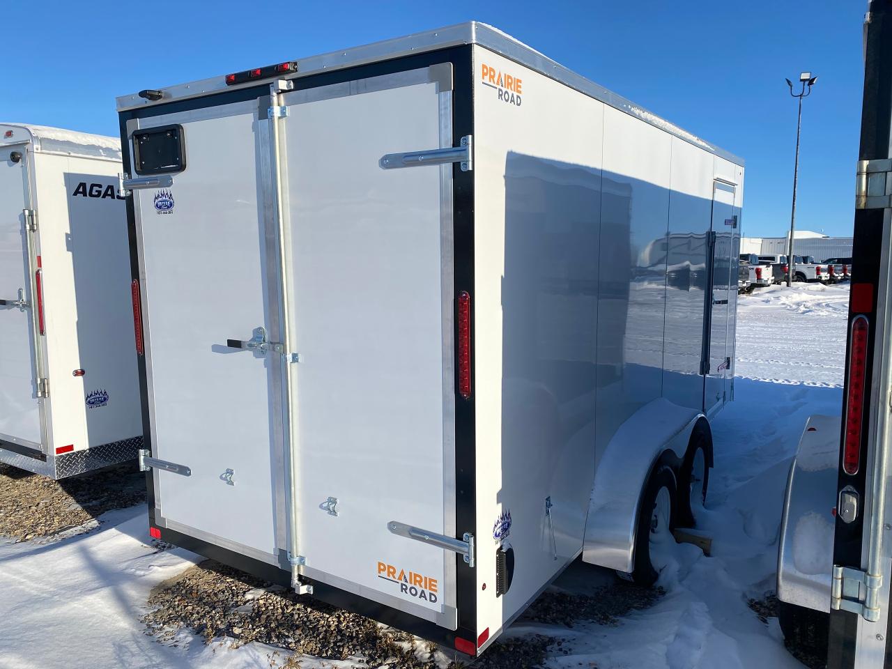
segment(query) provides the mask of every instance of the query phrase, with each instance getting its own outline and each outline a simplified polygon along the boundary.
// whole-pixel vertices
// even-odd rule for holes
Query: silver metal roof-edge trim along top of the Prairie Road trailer
[[[466,23],[458,23],[446,28],[418,32],[406,37],[396,37],[368,45],[355,46],[351,49],[342,49],[328,54],[300,58],[293,61],[297,63],[297,71],[294,74],[280,78],[308,77],[322,71],[343,70],[344,68],[355,67],[368,62],[384,61],[409,54],[423,54],[450,46],[469,44],[484,46],[531,70],[556,79],[580,93],[590,95],[615,109],[624,111],[656,128],[665,130],[665,132],[698,146],[704,151],[714,153],[740,166],[744,164],[743,159],[733,153],[706,142],[706,140],[691,134],[687,130],[679,128],[674,123],[660,118],[657,114],[642,109],[637,104],[626,100],[622,95],[616,95],[614,92],[607,90],[607,88],[582,77],[582,75],[577,74],[573,70],[567,69],[558,62],[551,60],[548,56],[511,37],[508,33],[479,21],[467,21]],[[252,80],[243,84],[227,86],[224,75],[220,75],[219,77],[200,79],[187,84],[157,89],[161,92],[161,98],[157,100],[142,98],[138,93],[121,95],[117,100],[118,111],[138,109],[139,107],[201,97],[202,95],[214,95],[224,90],[254,87],[259,83],[260,80]]]

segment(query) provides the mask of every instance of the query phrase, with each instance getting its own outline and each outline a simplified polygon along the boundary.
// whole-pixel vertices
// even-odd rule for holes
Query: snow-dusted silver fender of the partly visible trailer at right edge
[[[811,416],[789,468],[780,518],[777,596],[830,613],[839,416]]]

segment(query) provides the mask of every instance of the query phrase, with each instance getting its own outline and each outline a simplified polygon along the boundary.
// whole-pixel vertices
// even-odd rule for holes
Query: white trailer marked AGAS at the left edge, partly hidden
[[[0,123],[0,462],[54,479],[142,445],[120,142]]]

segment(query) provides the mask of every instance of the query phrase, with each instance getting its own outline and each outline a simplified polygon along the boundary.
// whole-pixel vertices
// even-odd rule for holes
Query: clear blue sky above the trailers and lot
[[[115,97],[475,19],[747,161],[744,234],[789,227],[796,103],[805,100],[797,228],[850,235],[863,0],[169,2],[9,0],[0,120],[117,135]]]

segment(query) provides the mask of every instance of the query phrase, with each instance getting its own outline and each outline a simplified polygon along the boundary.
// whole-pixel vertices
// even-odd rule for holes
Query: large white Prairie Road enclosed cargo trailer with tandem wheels
[[[480,23],[118,107],[153,535],[467,654],[579,556],[656,579],[742,161]]]

